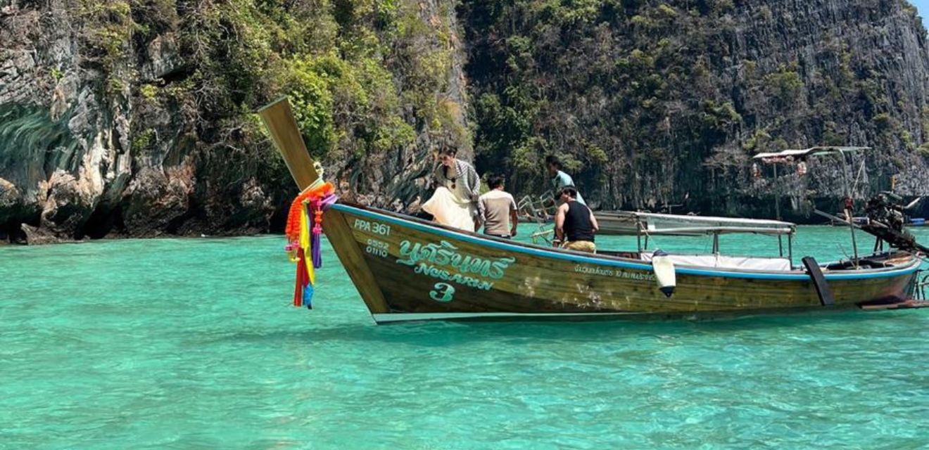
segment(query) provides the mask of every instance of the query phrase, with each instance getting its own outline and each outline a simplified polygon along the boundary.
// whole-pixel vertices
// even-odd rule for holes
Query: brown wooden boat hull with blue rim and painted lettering
[[[803,271],[678,267],[674,295],[651,264],[486,238],[347,204],[325,233],[378,323],[425,319],[752,315],[822,308]],[[909,298],[919,260],[826,271],[835,306]]]

